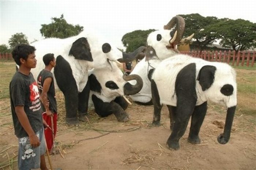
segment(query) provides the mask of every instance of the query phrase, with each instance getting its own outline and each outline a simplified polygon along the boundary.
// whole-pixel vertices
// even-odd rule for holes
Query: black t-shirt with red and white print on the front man
[[[10,100],[12,120],[17,137],[25,137],[28,134],[18,120],[15,112],[16,106],[24,106],[24,111],[35,133],[43,127],[39,91],[32,73],[27,76],[17,71],[14,74],[10,83]]]

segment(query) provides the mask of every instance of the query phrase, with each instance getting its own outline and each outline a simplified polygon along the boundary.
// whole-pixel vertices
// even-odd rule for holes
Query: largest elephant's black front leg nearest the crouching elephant
[[[83,91],[78,94],[78,120],[82,122],[88,121],[87,111],[90,94],[90,83],[87,81]]]

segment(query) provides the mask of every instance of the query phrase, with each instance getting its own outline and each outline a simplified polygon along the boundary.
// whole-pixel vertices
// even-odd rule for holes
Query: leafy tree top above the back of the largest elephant
[[[78,35],[83,31],[83,26],[68,24],[63,14],[60,18],[51,18],[52,23],[41,24],[40,33],[45,38],[67,38]]]

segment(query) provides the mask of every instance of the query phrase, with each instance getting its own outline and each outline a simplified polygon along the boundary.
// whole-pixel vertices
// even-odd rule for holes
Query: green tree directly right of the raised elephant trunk
[[[207,30],[207,27],[210,27],[211,24],[215,24],[219,22],[219,19],[214,16],[203,17],[199,14],[188,14],[188,15],[180,15],[185,20],[185,31],[184,37],[188,37],[189,35],[195,33],[193,45],[195,45],[199,50],[206,48],[207,45],[212,44],[218,39],[218,35],[211,34]]]

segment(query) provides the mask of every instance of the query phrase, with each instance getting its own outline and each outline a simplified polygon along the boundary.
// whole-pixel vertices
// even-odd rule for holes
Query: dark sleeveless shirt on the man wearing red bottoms
[[[47,70],[42,70],[38,77],[37,77],[37,83],[38,83],[38,88],[39,88],[39,92],[40,94],[42,94],[42,90],[43,90],[43,85],[44,85],[44,81],[46,78],[52,78],[52,82],[50,84],[49,90],[47,92],[47,97],[50,103],[49,109],[53,112],[53,113],[57,113],[57,102],[56,102],[56,98],[55,98],[55,88],[54,88],[54,80],[53,80],[53,75],[50,71]],[[45,107],[42,104],[42,109],[45,112]]]

